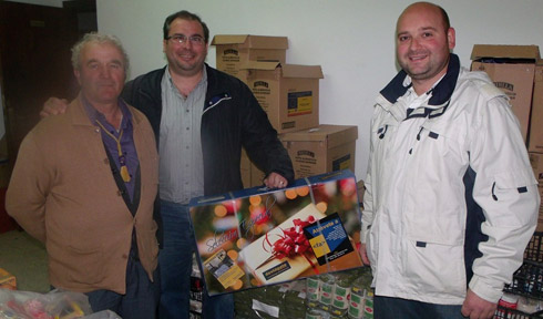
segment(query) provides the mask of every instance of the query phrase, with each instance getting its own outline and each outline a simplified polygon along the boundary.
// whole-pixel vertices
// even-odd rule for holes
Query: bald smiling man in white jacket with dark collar
[[[396,44],[402,70],[377,97],[365,181],[375,318],[491,318],[540,205],[518,120],[460,66],[442,8],[409,6]]]

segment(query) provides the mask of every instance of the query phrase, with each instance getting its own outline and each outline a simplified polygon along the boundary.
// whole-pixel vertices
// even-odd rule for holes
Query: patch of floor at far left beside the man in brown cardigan
[[[19,290],[50,290],[45,247],[24,231],[0,234],[0,268],[16,276]]]

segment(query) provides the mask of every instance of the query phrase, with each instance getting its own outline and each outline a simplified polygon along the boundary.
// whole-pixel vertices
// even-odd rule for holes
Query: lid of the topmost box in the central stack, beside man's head
[[[212,45],[239,44],[239,48],[250,49],[288,49],[287,37],[268,37],[250,34],[217,34],[213,37]]]

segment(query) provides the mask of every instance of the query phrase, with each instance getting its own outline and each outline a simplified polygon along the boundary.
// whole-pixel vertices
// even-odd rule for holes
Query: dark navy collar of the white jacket
[[[449,60],[449,66],[447,73],[441,79],[441,81],[433,89],[427,92],[427,94],[432,94],[430,100],[428,100],[427,106],[429,109],[441,109],[449,104],[454,88],[457,86],[458,75],[460,73],[460,60],[457,54],[451,53]],[[398,74],[390,81],[390,83],[381,90],[380,94],[389,103],[395,104],[399,97],[406,94],[407,90],[411,88],[411,81],[408,79],[406,71],[401,70]]]

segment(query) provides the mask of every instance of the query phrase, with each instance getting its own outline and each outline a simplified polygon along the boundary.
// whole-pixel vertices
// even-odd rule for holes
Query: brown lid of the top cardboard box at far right
[[[479,60],[483,58],[539,60],[540,48],[537,45],[473,45],[473,50],[471,51],[471,60]]]

